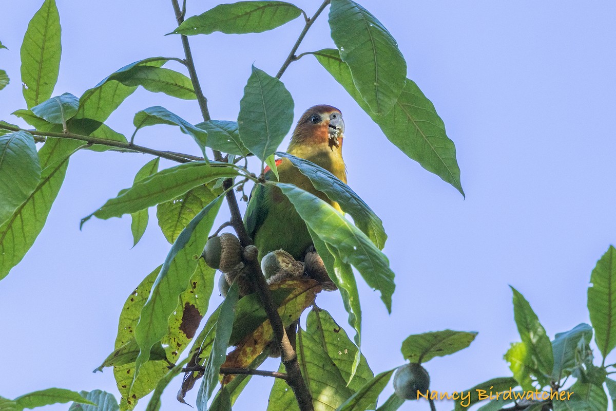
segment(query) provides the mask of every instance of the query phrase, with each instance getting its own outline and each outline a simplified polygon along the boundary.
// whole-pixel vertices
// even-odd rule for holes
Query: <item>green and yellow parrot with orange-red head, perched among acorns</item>
[[[346,166],[342,160],[343,137],[344,120],[340,110],[331,105],[315,105],[299,118],[286,152],[312,161],[346,184]],[[276,160],[276,165],[280,182],[294,184],[341,211],[338,203],[330,201],[325,193],[315,189],[290,160]],[[276,178],[269,167],[265,168],[264,173],[265,180]],[[254,186],[244,223],[248,235],[253,238],[254,245],[259,250],[259,261],[270,251],[280,249],[300,261],[312,245],[306,223],[295,211],[291,201],[278,187],[272,185]]]

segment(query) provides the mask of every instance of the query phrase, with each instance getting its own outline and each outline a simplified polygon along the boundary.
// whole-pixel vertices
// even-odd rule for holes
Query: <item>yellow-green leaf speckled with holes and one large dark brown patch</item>
[[[116,349],[135,341],[134,332],[140,312],[148,299],[153,283],[160,273],[160,268],[158,267],[151,272],[126,299],[118,324]],[[209,268],[203,262],[203,259],[200,259],[197,269],[193,269],[193,271],[192,277],[185,283],[184,291],[176,299],[177,306],[168,319],[169,325],[166,334],[160,341],[153,344],[153,348],[150,350],[150,358],[140,367],[137,378],[133,381],[136,368],[134,363],[137,355],[132,357],[132,362],[113,368],[116,384],[122,395],[123,410],[133,409],[140,398],[146,396],[158,386],[161,378],[168,376],[169,363],[165,358],[171,362],[176,362],[179,359],[182,351],[191,343],[200,324],[201,316],[208,311],[208,301],[214,287],[214,270]],[[166,347],[164,353],[155,349],[160,344],[164,344]],[[134,353],[134,351],[132,352]],[[157,352],[160,354],[156,354]],[[139,354],[138,346],[136,354]],[[152,356],[152,354],[155,354],[155,356]]]

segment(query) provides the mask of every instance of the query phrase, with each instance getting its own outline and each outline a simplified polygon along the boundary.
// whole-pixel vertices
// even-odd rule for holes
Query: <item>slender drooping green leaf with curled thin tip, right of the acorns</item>
[[[335,248],[330,248],[318,235],[311,230],[310,238],[314,243],[314,247],[317,250],[318,255],[323,259],[323,264],[327,270],[327,274],[338,287],[340,296],[342,297],[342,304],[349,317],[347,321],[349,325],[355,330],[355,344],[357,347],[362,346],[362,307],[359,302],[359,290],[357,290],[357,282],[355,281],[355,275],[351,264],[344,262],[340,253]],[[357,372],[357,368],[360,363],[360,350],[355,354],[353,364],[351,367],[351,377]]]

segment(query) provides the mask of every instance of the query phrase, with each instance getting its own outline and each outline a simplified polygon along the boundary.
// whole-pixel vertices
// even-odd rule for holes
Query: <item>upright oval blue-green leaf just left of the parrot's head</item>
[[[259,160],[274,154],[293,124],[293,97],[285,85],[253,65],[238,115],[241,142]]]

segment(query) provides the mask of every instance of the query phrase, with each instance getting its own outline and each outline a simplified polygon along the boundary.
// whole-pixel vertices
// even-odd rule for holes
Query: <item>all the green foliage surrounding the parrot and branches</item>
[[[294,115],[293,96],[280,78],[290,63],[304,55],[314,55],[325,68],[323,74],[333,76],[349,92],[387,139],[464,195],[455,145],[445,133],[444,122],[417,84],[407,78],[407,62],[391,33],[358,2],[331,0],[330,4],[326,0],[309,18],[304,10],[287,2],[241,1],[221,4],[186,20],[185,10],[180,9],[177,0],[172,3],[179,25],[170,34],[182,36],[185,58],[152,57],[129,63],[84,91],[81,97],[68,92],[54,96],[62,49],[55,1],[44,0],[28,25],[20,49],[27,108],[16,110],[14,115],[34,129],[0,121],[0,279],[33,245],[62,186],[70,157],[84,149],[142,152],[154,158],[139,170],[131,187],[83,218],[81,225],[93,216],[108,219],[130,214],[136,245],[148,224],[148,208],[156,206],[161,232],[172,246],[166,258],[161,256],[161,265],[136,288],[124,285],[131,292],[122,310],[116,344],[97,368],[114,367],[121,393],[119,404],[112,394],[103,391],[78,394],[50,388],[14,400],[0,397],[0,410],[68,401],[74,402],[71,410],[131,410],[152,391],[155,394],[147,408],[158,410],[161,393],[181,373],[181,401],[203,378],[197,409],[230,409],[249,375],[256,372],[267,355],[285,347],[284,338],[278,336],[285,328],[293,340],[288,343],[296,351],[301,373],[291,381],[293,359],[283,352],[279,372],[272,373],[279,378],[270,393],[268,410],[301,409],[301,401],[296,401],[300,394],[294,395],[287,383],[306,385],[315,410],[375,409],[396,368],[375,376],[362,354],[362,309],[353,269],[369,287],[381,293],[391,312],[394,272],[382,251],[387,235],[381,219],[345,182],[306,159],[277,152],[290,132]],[[328,6],[331,39],[337,48],[295,55],[314,20]],[[304,15],[304,30],[277,75],[252,67],[237,121],[209,118],[185,36],[215,31],[260,33],[300,15]],[[0,43],[0,49],[6,46]],[[162,67],[171,60],[182,63],[187,74]],[[6,72],[0,70],[0,90],[8,83]],[[164,107],[144,108],[134,115],[135,129],[129,141],[105,121],[137,87],[177,99],[197,100],[203,122],[192,124]],[[177,126],[192,137],[203,157],[134,145],[139,129],[159,124]],[[39,143],[43,145],[37,152]],[[260,160],[260,168],[248,169],[247,161],[244,166],[238,165],[253,155]],[[277,173],[275,155],[290,161],[323,198],[334,201],[339,209],[294,184],[265,181],[265,165]],[[180,164],[159,170],[160,158]],[[287,279],[269,286],[253,281],[254,293],[242,291],[242,283],[235,280],[224,302],[201,327],[214,287],[214,270],[200,259],[201,251],[223,199],[227,198],[233,214],[234,204],[237,208],[233,190],[243,190],[249,182],[279,190],[306,223],[327,274],[342,296],[348,322],[355,331],[354,341],[328,312],[317,307],[315,301],[325,285],[314,279]],[[247,269],[246,275],[261,275],[254,271],[254,259],[248,256],[249,240],[242,238],[240,220],[232,215],[229,222],[243,246],[239,269]],[[540,399],[518,402],[517,409],[605,410],[607,395],[602,385],[606,383],[611,396],[616,395],[616,382],[607,378],[610,366],[605,365],[605,357],[616,346],[615,258],[616,249],[610,246],[591,276],[588,309],[594,328],[580,324],[557,333],[552,341],[530,303],[512,288],[514,317],[521,337],[505,354],[513,376],[494,378],[469,391],[511,394],[517,386],[538,391],[568,389],[572,392],[571,402]],[[264,279],[261,283],[265,284]],[[312,309],[304,315],[302,325],[302,313],[309,307]],[[603,357],[601,365],[593,364],[589,345],[593,330]],[[425,364],[434,357],[467,348],[476,335],[452,330],[411,335],[402,343],[402,356]],[[182,351],[191,343],[188,355],[182,357]],[[235,349],[227,354],[231,346]],[[575,383],[567,386],[569,377]],[[482,399],[474,395],[467,405],[458,401],[456,410]],[[495,400],[483,408],[500,409],[511,402],[513,399],[505,403]],[[402,403],[394,395],[378,410],[395,410]],[[431,406],[434,408],[432,402]]]

